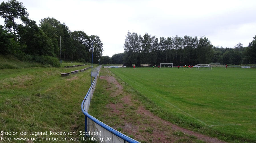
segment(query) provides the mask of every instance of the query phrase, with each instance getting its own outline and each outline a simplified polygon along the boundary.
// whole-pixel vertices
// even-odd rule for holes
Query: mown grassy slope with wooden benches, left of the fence
[[[60,73],[90,65],[69,69],[64,65],[77,63],[0,70],[0,131],[84,131],[81,102],[91,85],[90,70],[68,77]]]

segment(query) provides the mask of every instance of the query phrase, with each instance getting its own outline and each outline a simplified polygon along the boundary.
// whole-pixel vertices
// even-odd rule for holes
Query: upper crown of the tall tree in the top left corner
[[[23,6],[23,3],[19,3],[16,0],[8,0],[8,2],[2,2],[0,5],[0,16],[5,19],[5,27],[7,27],[14,35],[16,35],[17,24],[15,20],[20,19],[22,22],[27,21],[29,13],[27,8]]]

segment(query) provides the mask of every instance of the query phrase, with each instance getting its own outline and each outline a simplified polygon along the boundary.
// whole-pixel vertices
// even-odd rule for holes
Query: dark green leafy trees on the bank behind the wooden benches
[[[0,25],[0,53],[15,55],[21,60],[33,60],[34,55],[50,56],[65,61],[91,62],[88,49],[94,48],[93,61],[98,63],[103,44],[97,35],[84,31],[71,32],[65,23],[55,18],[43,18],[37,25],[29,18],[27,8],[16,0],[0,5],[0,16],[5,25]]]

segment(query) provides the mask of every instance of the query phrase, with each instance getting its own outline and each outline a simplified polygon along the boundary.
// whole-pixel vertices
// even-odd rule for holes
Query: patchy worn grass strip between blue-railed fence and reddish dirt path
[[[102,68],[100,71],[100,76],[113,76],[112,72],[108,72],[106,68]],[[177,136],[176,134],[172,134],[172,130],[170,127],[167,127],[167,130],[164,128],[166,125],[160,123],[156,124],[155,121],[147,119],[148,117],[142,114],[138,114],[137,110],[141,106],[141,102],[139,102],[136,98],[138,97],[137,92],[131,89],[127,84],[125,84],[120,78],[116,78],[119,84],[123,87],[123,93],[118,95],[114,95],[115,92],[115,84],[109,84],[104,79],[99,79],[97,81],[96,90],[94,91],[94,95],[92,97],[92,101],[89,108],[89,113],[95,118],[99,119],[103,123],[106,123],[110,127],[113,127],[117,131],[134,138],[135,140],[139,140],[142,142],[161,142],[162,140],[169,140],[176,142],[201,142],[195,136],[188,136],[186,134],[182,134],[182,136]],[[125,104],[122,100],[124,96],[131,96],[132,103]],[[119,113],[113,113],[112,108],[109,107],[110,104],[119,104],[121,108],[119,108]],[[134,105],[133,105],[134,104]],[[123,106],[122,106],[123,105]],[[138,127],[136,133],[127,133],[125,130],[126,123]],[[142,125],[143,124],[143,125]],[[144,126],[146,124],[146,126]],[[136,131],[136,130],[133,130]],[[160,138],[156,136],[154,133],[164,131],[168,133],[167,138]],[[138,138],[138,136],[141,136]],[[187,139],[188,138],[188,139]],[[154,140],[154,141],[153,141]]]

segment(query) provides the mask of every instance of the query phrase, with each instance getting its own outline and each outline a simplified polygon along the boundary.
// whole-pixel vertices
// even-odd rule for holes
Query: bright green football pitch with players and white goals
[[[256,69],[212,69],[110,70],[167,113],[161,118],[224,140],[255,141]]]

